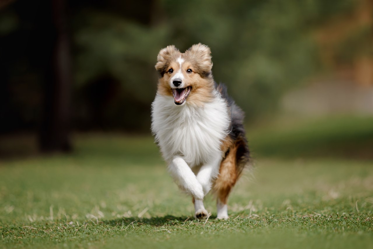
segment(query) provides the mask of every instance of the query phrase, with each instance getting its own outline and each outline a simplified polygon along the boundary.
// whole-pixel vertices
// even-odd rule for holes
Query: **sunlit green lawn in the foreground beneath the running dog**
[[[228,221],[192,218],[162,164],[56,156],[1,166],[5,248],[371,248],[371,162],[258,159],[229,200]],[[131,160],[130,160],[131,161]],[[101,166],[102,164],[102,166]],[[3,177],[6,176],[6,177]]]

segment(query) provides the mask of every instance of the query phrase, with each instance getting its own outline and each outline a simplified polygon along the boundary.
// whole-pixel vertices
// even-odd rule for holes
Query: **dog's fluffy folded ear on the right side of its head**
[[[212,68],[211,50],[201,43],[194,44],[187,51],[191,58],[195,58],[204,74],[209,74]]]

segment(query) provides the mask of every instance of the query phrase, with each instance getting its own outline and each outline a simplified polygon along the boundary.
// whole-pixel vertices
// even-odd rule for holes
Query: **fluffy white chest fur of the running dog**
[[[222,155],[221,141],[229,132],[230,119],[220,96],[198,107],[187,102],[178,106],[172,97],[157,94],[151,116],[151,130],[167,162],[181,156],[192,168]]]

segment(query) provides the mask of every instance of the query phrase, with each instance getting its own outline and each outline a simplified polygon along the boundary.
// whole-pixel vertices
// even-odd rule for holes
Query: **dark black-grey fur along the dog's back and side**
[[[245,128],[244,128],[244,111],[239,108],[238,105],[234,102],[234,100],[229,97],[227,93],[227,87],[220,83],[219,85],[215,82],[216,89],[220,92],[223,99],[226,100],[229,107],[229,112],[231,113],[231,132],[229,136],[231,137],[233,143],[238,145],[237,153],[236,153],[236,165],[237,165],[237,173],[238,175],[241,174],[242,170],[248,164],[250,159],[250,151],[247,143],[247,139],[245,136]],[[229,153],[228,151],[225,152],[225,155]]]

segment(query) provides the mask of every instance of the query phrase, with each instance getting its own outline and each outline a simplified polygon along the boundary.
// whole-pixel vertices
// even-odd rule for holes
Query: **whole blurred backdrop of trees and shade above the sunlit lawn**
[[[152,140],[157,54],[200,42],[254,156],[373,158],[372,34],[370,0],[3,0],[0,157]]]

